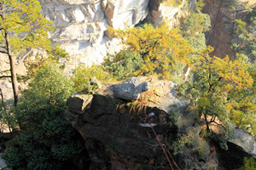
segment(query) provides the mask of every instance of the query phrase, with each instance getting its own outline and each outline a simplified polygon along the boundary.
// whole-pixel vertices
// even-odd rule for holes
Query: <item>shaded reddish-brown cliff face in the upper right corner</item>
[[[226,55],[230,59],[235,59],[236,54],[230,48],[232,42],[236,42],[237,37],[233,35],[233,20],[239,19],[244,7],[241,3],[247,3],[248,7],[256,4],[255,0],[238,0],[236,10],[226,8],[224,0],[204,0],[206,4],[202,10],[209,14],[212,28],[207,33],[207,45],[211,45],[215,50],[212,55],[224,58]]]

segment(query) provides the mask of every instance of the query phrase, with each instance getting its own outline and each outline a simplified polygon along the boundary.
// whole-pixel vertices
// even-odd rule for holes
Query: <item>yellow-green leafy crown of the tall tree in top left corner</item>
[[[51,21],[41,13],[41,5],[37,0],[1,0],[0,44],[6,48],[5,33],[11,35],[9,43],[11,52],[20,55],[28,48],[44,48],[51,50],[47,32],[53,31]]]

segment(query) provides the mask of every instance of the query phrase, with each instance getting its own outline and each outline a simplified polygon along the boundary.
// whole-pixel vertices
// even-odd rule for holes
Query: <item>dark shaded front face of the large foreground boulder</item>
[[[145,113],[151,112],[155,132],[168,145],[176,138],[177,127],[165,111],[145,105],[119,105],[106,96],[93,95],[90,108],[73,120],[73,126],[84,138],[90,170],[169,169],[152,129],[142,126],[148,123]]]

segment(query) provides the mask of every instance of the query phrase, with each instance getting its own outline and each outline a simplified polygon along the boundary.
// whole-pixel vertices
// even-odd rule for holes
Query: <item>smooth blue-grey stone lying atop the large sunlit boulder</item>
[[[148,89],[149,82],[142,82],[139,77],[133,77],[120,85],[113,86],[114,97],[128,101],[138,99],[140,94]]]

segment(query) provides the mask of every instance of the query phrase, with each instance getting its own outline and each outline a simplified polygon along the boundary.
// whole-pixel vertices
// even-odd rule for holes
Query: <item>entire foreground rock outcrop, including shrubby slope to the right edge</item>
[[[98,82],[97,82],[98,83]],[[84,138],[88,169],[236,169],[243,157],[256,157],[255,138],[236,129],[221,150],[201,137],[201,125],[173,82],[131,78],[97,84],[95,94],[67,99],[67,119]]]

